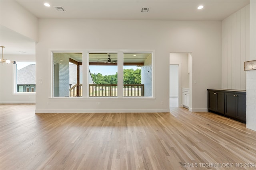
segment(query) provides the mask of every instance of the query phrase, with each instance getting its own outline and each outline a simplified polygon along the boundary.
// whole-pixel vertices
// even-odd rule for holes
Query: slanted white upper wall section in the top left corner
[[[38,18],[15,1],[0,1],[0,23],[34,41],[38,41]]]

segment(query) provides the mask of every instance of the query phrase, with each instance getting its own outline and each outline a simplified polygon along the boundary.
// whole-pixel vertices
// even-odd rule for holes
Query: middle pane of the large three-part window
[[[89,96],[117,96],[117,53],[89,53]]]

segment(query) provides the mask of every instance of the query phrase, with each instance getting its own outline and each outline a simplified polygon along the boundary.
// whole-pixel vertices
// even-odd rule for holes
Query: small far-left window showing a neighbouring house
[[[36,63],[17,62],[16,92],[36,92]]]

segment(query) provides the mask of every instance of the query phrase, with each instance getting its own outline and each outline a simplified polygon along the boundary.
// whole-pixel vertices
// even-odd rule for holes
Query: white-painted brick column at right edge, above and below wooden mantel
[[[256,1],[250,1],[250,61],[256,60]],[[256,70],[246,71],[246,127],[256,131]]]

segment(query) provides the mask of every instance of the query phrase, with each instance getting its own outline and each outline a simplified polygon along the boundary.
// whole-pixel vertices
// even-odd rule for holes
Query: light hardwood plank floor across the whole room
[[[256,169],[256,132],[213,113],[34,109],[0,105],[1,170]]]

